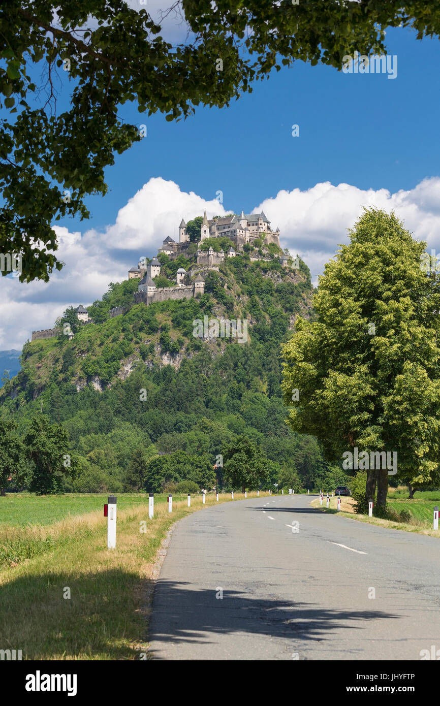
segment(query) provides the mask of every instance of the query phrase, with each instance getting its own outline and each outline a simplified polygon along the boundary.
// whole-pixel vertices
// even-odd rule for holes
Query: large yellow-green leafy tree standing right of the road
[[[317,321],[298,318],[283,346],[288,422],[330,460],[396,452],[397,477],[427,482],[440,450],[439,275],[423,271],[426,243],[393,213],[365,210],[349,233],[319,280]],[[366,499],[376,483],[385,505],[383,462],[368,469]]]

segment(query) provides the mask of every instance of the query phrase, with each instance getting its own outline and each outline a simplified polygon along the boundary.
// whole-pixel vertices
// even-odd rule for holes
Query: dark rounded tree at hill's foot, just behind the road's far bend
[[[239,436],[223,448],[223,477],[234,488],[258,488],[268,483],[268,461],[255,441]]]

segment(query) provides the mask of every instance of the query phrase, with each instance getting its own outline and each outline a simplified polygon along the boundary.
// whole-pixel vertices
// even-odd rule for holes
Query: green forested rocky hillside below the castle
[[[164,261],[162,270],[172,277],[178,266],[179,258]],[[314,439],[286,426],[280,393],[280,343],[298,314],[311,316],[307,265],[244,254],[204,277],[202,297],[150,306],[133,303],[138,280],[112,284],[89,307],[94,323],[78,323],[72,340],[60,334],[23,347],[0,413],[16,420],[21,438],[40,414],[64,427],[78,461],[66,490],[159,491],[182,479],[206,487],[222,445],[243,433],[283,484],[312,488],[328,472]],[[110,317],[116,306],[127,311]],[[205,316],[248,319],[247,342],[194,337],[194,320]]]

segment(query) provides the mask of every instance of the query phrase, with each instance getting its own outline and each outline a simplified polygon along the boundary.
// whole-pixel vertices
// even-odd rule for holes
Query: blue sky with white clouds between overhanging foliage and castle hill
[[[90,220],[54,225],[61,273],[29,285],[0,278],[0,350],[52,327],[66,306],[92,304],[204,208],[210,217],[263,208],[315,284],[364,206],[396,210],[439,252],[439,40],[407,29],[386,39],[394,79],[297,62],[229,108],[198,107],[179,123],[124,106],[121,116],[145,123],[147,137],[107,167],[109,192],[86,200]]]

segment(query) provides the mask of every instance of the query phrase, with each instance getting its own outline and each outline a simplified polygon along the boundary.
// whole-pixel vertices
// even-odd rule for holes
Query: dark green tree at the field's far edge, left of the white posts
[[[40,414],[30,422],[23,443],[32,467],[31,493],[62,493],[64,478],[72,477],[76,467],[67,431]]]

